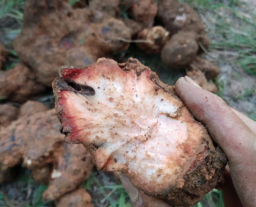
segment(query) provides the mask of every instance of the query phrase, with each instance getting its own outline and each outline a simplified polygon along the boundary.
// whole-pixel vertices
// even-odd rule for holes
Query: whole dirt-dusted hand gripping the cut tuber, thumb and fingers
[[[256,206],[256,122],[229,107],[218,96],[203,90],[187,76],[180,78],[175,86],[178,96],[205,125],[229,159],[230,173],[227,169],[221,187],[225,207]],[[121,175],[120,180],[134,206],[171,206],[138,191],[126,176]]]

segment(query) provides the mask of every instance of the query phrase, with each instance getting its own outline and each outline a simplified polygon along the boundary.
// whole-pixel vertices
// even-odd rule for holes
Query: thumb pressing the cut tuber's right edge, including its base
[[[196,86],[190,78],[180,78],[176,92],[187,107],[208,129],[212,139],[229,159],[230,173],[244,206],[256,205],[256,135],[218,96]]]

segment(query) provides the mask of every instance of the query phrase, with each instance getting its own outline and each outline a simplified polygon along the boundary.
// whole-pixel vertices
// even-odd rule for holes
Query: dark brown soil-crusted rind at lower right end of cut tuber
[[[196,168],[184,177],[182,188],[172,188],[164,195],[147,193],[167,201],[174,206],[189,207],[198,203],[206,193],[224,183],[223,172],[227,157],[220,147],[207,149],[204,157],[195,163]],[[209,179],[209,177],[212,177]]]

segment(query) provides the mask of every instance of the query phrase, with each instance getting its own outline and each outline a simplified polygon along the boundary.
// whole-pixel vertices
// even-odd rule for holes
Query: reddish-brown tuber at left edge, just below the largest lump
[[[36,74],[22,63],[12,70],[0,71],[0,96],[8,100],[24,102],[44,90],[45,86],[38,83]]]

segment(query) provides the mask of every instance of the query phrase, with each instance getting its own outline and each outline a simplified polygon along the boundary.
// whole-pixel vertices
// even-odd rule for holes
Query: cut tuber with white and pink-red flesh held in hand
[[[146,195],[196,204],[223,181],[227,157],[174,87],[130,58],[65,68],[52,84],[62,133],[99,170],[121,171]]]

